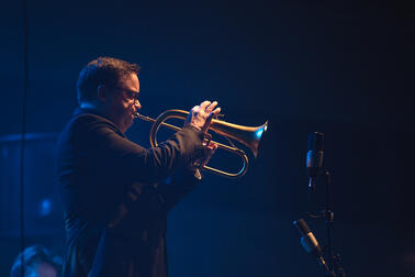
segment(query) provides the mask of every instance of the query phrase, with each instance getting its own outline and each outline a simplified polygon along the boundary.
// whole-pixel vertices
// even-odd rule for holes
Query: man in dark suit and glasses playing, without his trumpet
[[[135,64],[100,57],[79,75],[79,108],[57,144],[64,276],[167,276],[167,213],[201,180],[193,163],[208,163],[217,148],[203,144],[221,111],[210,101],[157,147],[128,141],[124,133],[142,107],[138,73]]]

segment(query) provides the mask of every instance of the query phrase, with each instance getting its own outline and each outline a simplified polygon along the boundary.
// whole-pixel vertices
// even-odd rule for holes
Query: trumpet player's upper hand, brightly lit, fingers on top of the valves
[[[221,108],[216,108],[217,102],[204,101],[200,106],[194,106],[190,110],[189,115],[184,122],[184,125],[191,125],[203,133],[206,133],[211,125],[212,119],[217,117],[221,112]]]

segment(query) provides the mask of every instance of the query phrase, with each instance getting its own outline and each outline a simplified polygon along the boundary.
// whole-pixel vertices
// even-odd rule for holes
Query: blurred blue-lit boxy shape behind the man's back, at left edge
[[[63,208],[55,175],[56,133],[25,134],[24,232],[29,236],[64,234]],[[0,136],[0,236],[20,234],[21,135]]]

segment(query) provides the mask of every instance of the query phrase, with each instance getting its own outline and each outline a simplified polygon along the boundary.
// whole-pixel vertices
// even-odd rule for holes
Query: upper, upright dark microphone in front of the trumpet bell
[[[324,134],[319,132],[313,132],[309,134],[307,138],[307,158],[306,158],[306,168],[309,173],[309,192],[312,193],[315,187],[315,178],[323,166],[323,142]]]

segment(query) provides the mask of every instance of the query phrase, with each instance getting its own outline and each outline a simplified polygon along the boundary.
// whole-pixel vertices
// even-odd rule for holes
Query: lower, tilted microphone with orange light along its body
[[[317,259],[317,263],[323,267],[326,276],[334,276],[334,273],[330,272],[322,255],[322,247],[318,245],[314,234],[310,231],[307,223],[305,223],[303,219],[299,219],[293,222],[293,225],[300,231],[301,244],[304,250]]]

